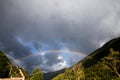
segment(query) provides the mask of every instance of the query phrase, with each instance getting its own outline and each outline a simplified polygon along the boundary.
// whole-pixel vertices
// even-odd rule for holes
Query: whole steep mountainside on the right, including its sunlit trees
[[[120,37],[110,40],[52,80],[120,80]]]

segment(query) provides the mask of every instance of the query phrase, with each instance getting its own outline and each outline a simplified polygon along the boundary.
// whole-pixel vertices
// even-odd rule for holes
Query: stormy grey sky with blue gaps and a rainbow
[[[31,72],[70,67],[120,35],[120,0],[0,0],[0,50]]]

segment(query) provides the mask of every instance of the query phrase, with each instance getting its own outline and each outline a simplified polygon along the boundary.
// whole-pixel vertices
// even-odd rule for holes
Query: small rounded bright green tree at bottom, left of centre
[[[33,75],[30,78],[30,80],[43,80],[43,73],[41,70],[39,70],[38,68],[35,68],[33,70]]]

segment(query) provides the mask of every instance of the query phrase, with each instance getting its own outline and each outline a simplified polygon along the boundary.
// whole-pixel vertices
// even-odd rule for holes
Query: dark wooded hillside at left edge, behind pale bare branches
[[[22,70],[26,78],[29,76],[22,68],[12,65],[9,58],[0,51],[0,78],[21,77],[19,69]]]

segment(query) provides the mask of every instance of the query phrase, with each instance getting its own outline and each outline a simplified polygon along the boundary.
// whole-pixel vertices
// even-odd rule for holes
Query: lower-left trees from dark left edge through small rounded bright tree
[[[0,51],[0,78],[21,77],[20,67],[13,66],[9,58]],[[29,75],[25,70],[20,68],[25,75],[26,80],[43,80],[43,73],[38,68],[33,70],[33,74]]]

